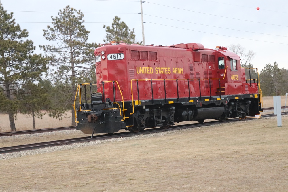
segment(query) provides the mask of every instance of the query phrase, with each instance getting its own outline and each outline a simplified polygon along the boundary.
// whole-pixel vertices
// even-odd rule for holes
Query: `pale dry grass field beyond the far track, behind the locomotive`
[[[285,96],[281,96],[281,106],[285,105]],[[273,107],[273,97],[263,97],[263,107]],[[36,129],[71,126],[71,112],[67,112],[66,118],[62,120],[53,119],[48,114],[43,119],[35,119]],[[33,129],[32,117],[18,114],[15,120],[16,130]],[[7,114],[0,114],[0,132],[9,132],[10,124]]]

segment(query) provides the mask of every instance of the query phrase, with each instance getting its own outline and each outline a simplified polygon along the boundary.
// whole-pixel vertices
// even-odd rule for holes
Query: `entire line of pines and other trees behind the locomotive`
[[[49,116],[62,119],[71,110],[78,83],[96,83],[94,49],[99,44],[88,43],[90,31],[84,26],[84,14],[72,7],[59,10],[51,16],[51,26],[43,29],[47,45],[39,45],[43,54],[35,54],[35,46],[28,39],[28,31],[21,29],[0,2],[0,112],[9,116],[11,131],[16,131],[17,113],[35,118]],[[103,25],[106,38],[103,42],[123,41],[142,44],[118,16],[111,26]],[[230,50],[241,57],[241,66],[251,68],[251,78],[257,72],[250,63],[255,53],[245,51],[241,45],[231,45]],[[246,69],[247,70],[247,69]],[[259,72],[258,72],[259,73]],[[247,76],[246,72],[246,76]],[[278,68],[277,62],[266,64],[259,73],[263,95],[285,94],[287,70]],[[249,77],[246,77],[249,78]],[[45,111],[45,112],[43,112]],[[71,125],[75,125],[72,115]]]

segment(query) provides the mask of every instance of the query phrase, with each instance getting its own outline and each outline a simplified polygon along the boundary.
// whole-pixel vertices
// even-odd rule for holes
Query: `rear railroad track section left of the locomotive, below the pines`
[[[0,137],[1,136],[11,136],[11,135],[32,134],[32,133],[43,133],[43,132],[51,132],[51,131],[71,130],[71,129],[76,129],[76,126],[3,132],[3,133],[0,133]]]

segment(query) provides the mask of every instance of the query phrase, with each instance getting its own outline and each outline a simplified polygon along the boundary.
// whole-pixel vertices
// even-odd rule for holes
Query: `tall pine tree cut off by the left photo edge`
[[[21,30],[14,20],[13,12],[8,14],[0,3],[0,85],[1,97],[5,96],[5,105],[0,106],[0,111],[8,113],[11,131],[16,131],[14,118],[19,103],[16,88],[29,63],[29,55],[35,50],[33,42],[26,39],[27,30]]]

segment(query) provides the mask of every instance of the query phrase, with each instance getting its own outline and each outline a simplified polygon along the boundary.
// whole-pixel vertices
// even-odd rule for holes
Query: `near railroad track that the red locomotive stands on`
[[[288,114],[288,112],[282,113],[282,115],[286,115],[286,114]],[[261,117],[272,117],[272,116],[276,116],[276,115],[266,114],[266,115],[262,115]],[[247,118],[244,120],[251,120],[251,119],[252,118]],[[45,147],[52,147],[52,146],[58,146],[58,145],[67,145],[67,144],[80,143],[80,142],[89,142],[89,141],[95,141],[95,140],[105,140],[105,139],[111,139],[111,138],[128,137],[128,136],[134,136],[134,135],[140,135],[140,134],[151,134],[151,133],[158,133],[158,132],[164,132],[164,131],[170,131],[170,130],[196,128],[196,127],[202,127],[202,126],[215,125],[217,123],[228,123],[228,122],[233,122],[233,121],[243,121],[243,120],[240,120],[238,118],[234,118],[234,119],[227,119],[225,122],[211,121],[211,122],[205,122],[205,123],[194,123],[194,124],[170,126],[170,128],[168,128],[168,129],[152,128],[152,129],[143,130],[143,131],[138,132],[138,133],[120,132],[120,133],[115,133],[115,134],[96,135],[93,137],[88,136],[88,137],[65,139],[65,140],[58,140],[58,141],[32,143],[32,144],[27,144],[27,145],[2,147],[2,148],[0,148],[0,154],[1,153],[11,153],[11,152],[16,152],[16,151],[31,150],[31,149],[39,149],[39,148],[45,148]]]

